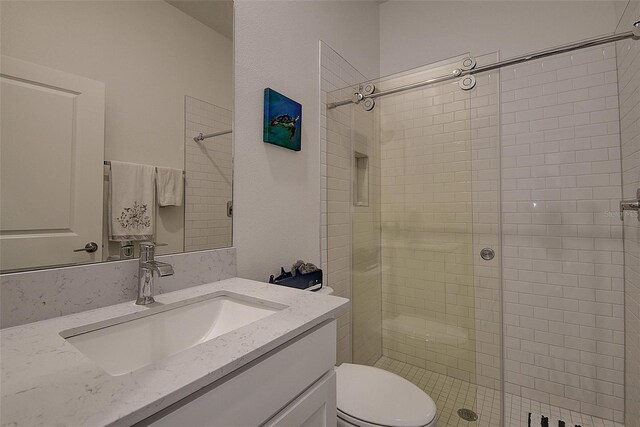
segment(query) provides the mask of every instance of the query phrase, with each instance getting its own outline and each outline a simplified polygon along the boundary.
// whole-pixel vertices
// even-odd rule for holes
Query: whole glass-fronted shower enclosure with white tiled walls
[[[464,54],[327,94],[328,282],[352,301],[339,363],[411,380],[440,427],[527,425],[529,412],[624,421],[633,22],[533,58]],[[639,270],[637,250],[626,260]],[[640,393],[629,375],[637,366],[627,402]]]

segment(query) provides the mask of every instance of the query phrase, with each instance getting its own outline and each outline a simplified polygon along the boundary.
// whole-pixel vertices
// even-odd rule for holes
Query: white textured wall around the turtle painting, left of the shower
[[[320,263],[319,41],[367,77],[379,66],[377,2],[235,4],[234,244],[238,275]],[[303,106],[302,151],[262,142],[263,90]]]

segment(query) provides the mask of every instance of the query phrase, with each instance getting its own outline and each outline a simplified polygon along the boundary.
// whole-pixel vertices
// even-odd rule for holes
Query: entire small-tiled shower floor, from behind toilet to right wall
[[[376,367],[404,377],[420,387],[436,402],[438,427],[499,427],[500,392],[466,381],[428,371],[405,362],[381,357]],[[473,409],[478,414],[475,422],[465,421],[457,414],[460,408]],[[620,423],[561,409],[510,394],[505,395],[505,427],[527,427],[529,412],[542,413],[551,419],[562,419],[567,427],[624,427]],[[550,425],[555,426],[557,424]]]

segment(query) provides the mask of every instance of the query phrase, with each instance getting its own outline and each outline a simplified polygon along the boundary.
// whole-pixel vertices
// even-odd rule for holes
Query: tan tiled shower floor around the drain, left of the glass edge
[[[500,392],[496,390],[385,356],[380,358],[375,366],[406,378],[431,396],[438,410],[438,427],[497,427],[500,425]],[[457,413],[460,408],[474,410],[478,414],[478,420],[463,420]]]

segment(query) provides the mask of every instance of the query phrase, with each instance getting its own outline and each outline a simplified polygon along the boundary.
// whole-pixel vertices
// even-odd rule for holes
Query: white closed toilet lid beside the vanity
[[[343,363],[336,368],[338,410],[368,423],[392,427],[426,426],[436,416],[433,400],[391,372]]]

